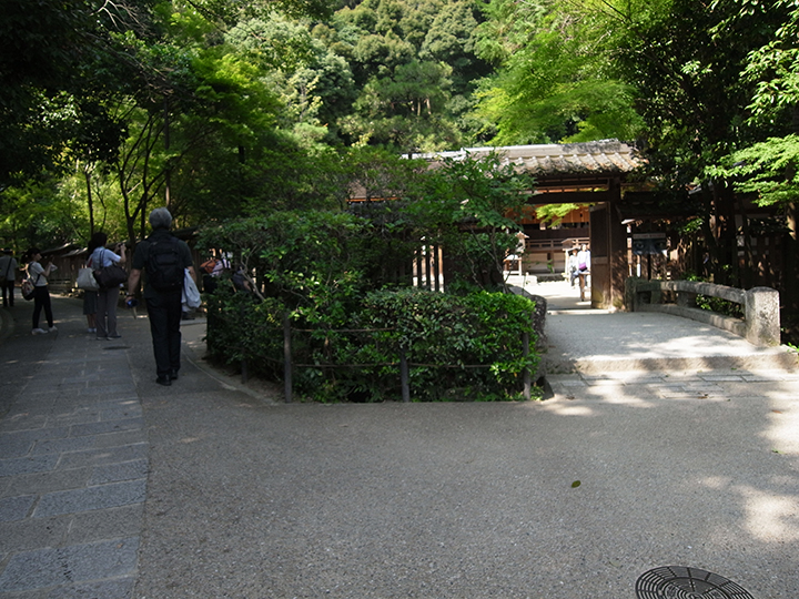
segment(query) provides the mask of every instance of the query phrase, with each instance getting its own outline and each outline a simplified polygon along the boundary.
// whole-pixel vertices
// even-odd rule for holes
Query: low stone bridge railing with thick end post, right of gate
[[[744,319],[696,307],[697,295],[741,304]],[[626,281],[625,304],[633,312],[665,312],[714,325],[745,337],[752,345],[780,344],[779,292],[770,287],[744,291],[714,283],[631,277]]]

